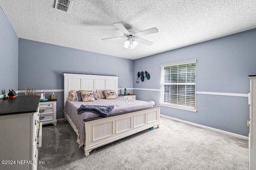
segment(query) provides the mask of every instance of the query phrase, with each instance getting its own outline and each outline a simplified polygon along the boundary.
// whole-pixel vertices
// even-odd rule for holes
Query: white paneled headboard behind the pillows
[[[68,92],[75,89],[111,89],[118,92],[118,76],[102,76],[92,74],[64,74],[64,106],[68,98]]]

